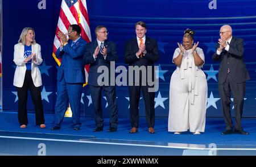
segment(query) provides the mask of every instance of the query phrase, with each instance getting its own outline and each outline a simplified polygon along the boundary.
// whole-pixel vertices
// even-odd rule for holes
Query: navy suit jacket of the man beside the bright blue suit
[[[108,49],[106,60],[101,53],[98,53],[96,60],[93,58],[93,53],[98,46],[97,40],[92,41],[86,45],[84,54],[84,63],[90,64],[89,74],[88,74],[88,85],[99,86],[97,83],[98,76],[102,73],[97,73],[98,67],[101,65],[106,66],[109,69],[109,85],[110,86],[110,61],[117,61],[118,55],[115,48],[115,44],[112,41],[105,40],[104,46]],[[114,67],[113,67],[114,68]]]

